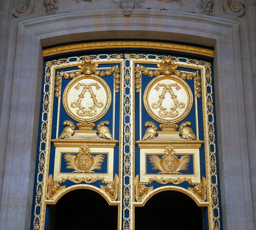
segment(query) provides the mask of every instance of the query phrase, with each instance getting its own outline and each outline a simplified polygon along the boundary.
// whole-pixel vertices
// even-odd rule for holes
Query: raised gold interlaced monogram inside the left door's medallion
[[[90,83],[90,84],[78,83],[76,85],[75,89],[79,90],[80,86],[84,86],[84,88],[81,91],[81,94],[79,94],[79,99],[76,102],[72,102],[71,103],[71,107],[72,108],[76,108],[76,107],[79,108],[79,110],[76,111],[76,113],[79,116],[94,116],[94,115],[96,115],[97,111],[96,111],[95,108],[96,107],[102,108],[103,107],[103,103],[97,101],[96,94],[93,93],[92,87],[95,86],[96,90],[99,90],[100,86],[97,83]],[[88,107],[88,110],[86,110],[86,108],[81,105],[81,101],[84,98],[84,94],[87,91],[90,93],[90,95],[91,95],[90,97],[93,99],[93,103],[94,103],[92,106]]]

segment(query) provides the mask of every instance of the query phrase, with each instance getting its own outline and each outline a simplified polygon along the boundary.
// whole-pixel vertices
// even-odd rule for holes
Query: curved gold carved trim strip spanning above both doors
[[[151,48],[151,49],[160,49],[160,50],[169,50],[169,51],[180,51],[180,52],[186,52],[190,54],[200,54],[207,57],[214,56],[214,51],[211,49],[194,47],[190,45],[146,42],[146,41],[104,41],[104,42],[62,45],[58,47],[44,49],[43,57],[47,57],[55,54],[74,52],[74,51],[106,49],[106,48]]]

